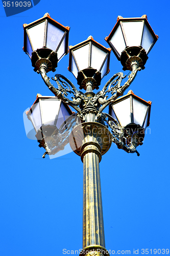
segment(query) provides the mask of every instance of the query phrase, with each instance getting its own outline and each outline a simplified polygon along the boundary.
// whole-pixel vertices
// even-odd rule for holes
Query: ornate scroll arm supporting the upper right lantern
[[[96,120],[98,120],[100,117],[101,117],[101,113],[102,111],[106,108],[106,106],[112,104],[112,102],[114,100],[116,100],[119,96],[122,96],[124,94],[124,92],[126,91],[126,89],[130,86],[130,84],[133,82],[133,80],[135,79],[136,77],[136,74],[138,71],[140,71],[141,68],[138,67],[138,65],[134,64],[132,66],[132,71],[130,73],[130,75],[128,76],[128,81],[124,83],[123,86],[120,86],[120,83],[122,82],[122,79],[125,78],[122,73],[117,73],[116,75],[119,77],[116,79],[117,83],[115,84],[115,86],[112,88],[112,94],[114,93],[113,96],[111,96],[108,100],[106,99],[106,97],[103,99],[102,97],[99,98],[99,103],[102,105],[101,108],[99,109],[99,113],[98,115],[96,116]],[[115,78],[115,75],[111,78],[112,80]],[[110,80],[111,80],[110,79]],[[109,80],[109,81],[110,81]],[[111,80],[111,81],[112,81]],[[109,81],[106,83],[105,87],[106,88],[108,86],[108,83]],[[109,91],[108,91],[109,92]],[[102,96],[102,95],[101,95]]]

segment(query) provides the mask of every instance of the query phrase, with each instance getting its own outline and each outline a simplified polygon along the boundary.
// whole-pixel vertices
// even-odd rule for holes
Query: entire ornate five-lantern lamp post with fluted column
[[[45,154],[56,154],[69,142],[72,150],[81,157],[84,166],[81,255],[108,254],[105,249],[99,162],[112,142],[118,148],[139,156],[136,147],[142,144],[145,128],[149,125],[151,102],[142,100],[132,91],[125,96],[123,94],[137,72],[144,68],[158,36],[146,15],[126,19],[118,16],[115,27],[105,39],[123,69],[131,73],[123,85],[126,76],[122,72],[116,73],[95,94],[93,90],[99,89],[101,79],[109,73],[110,48],[103,47],[91,36],[69,47],[68,70],[77,78],[80,89],[86,92],[78,91],[74,84],[59,74],[52,77],[57,82],[55,88],[46,73],[55,71],[58,59],[67,54],[68,28],[46,14],[35,23],[24,26],[24,30],[23,49],[31,57],[34,70],[55,95],[51,98],[39,95],[27,116],[34,126],[40,146],[45,148]],[[36,37],[36,31],[39,37]],[[57,39],[53,41],[52,38]],[[67,98],[68,93],[74,95],[71,100]],[[72,114],[68,105],[76,113]],[[108,105],[109,114],[103,112]],[[58,121],[59,115],[62,123]]]

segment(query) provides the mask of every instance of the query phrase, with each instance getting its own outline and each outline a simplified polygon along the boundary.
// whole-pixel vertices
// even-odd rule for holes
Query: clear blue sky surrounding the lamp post
[[[138,255],[143,255],[141,249],[170,250],[169,2],[41,0],[32,9],[10,17],[6,17],[0,3],[0,12],[0,255],[61,256],[63,249],[82,248],[81,159],[74,152],[53,160],[48,156],[42,159],[43,148],[27,138],[23,126],[22,114],[35,101],[36,94],[52,95],[22,51],[22,24],[46,12],[70,26],[69,45],[73,46],[92,35],[108,47],[104,38],[118,15],[147,14],[159,35],[145,69],[130,87],[137,96],[153,102],[151,133],[138,147],[140,157],[118,150],[113,144],[102,157],[100,170],[106,248],[131,250],[131,254],[139,249]],[[68,55],[59,62],[56,73],[76,86],[67,67]],[[111,53],[110,73],[102,84],[121,71],[120,62]]]

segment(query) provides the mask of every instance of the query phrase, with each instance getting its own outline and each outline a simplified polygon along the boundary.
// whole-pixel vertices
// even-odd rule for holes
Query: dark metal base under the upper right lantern
[[[128,46],[120,56],[120,62],[122,63],[123,70],[132,70],[133,64],[144,69],[147,59],[147,52],[141,46]]]

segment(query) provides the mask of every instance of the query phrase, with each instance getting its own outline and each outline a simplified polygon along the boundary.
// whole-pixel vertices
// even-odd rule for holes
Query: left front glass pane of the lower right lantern
[[[113,110],[121,126],[131,123],[130,98],[114,104]]]

